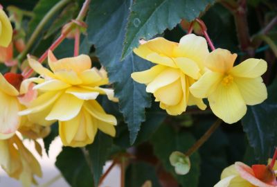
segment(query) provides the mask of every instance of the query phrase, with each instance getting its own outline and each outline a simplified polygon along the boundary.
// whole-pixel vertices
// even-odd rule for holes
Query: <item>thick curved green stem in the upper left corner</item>
[[[26,48],[20,55],[17,57],[17,60],[21,62],[26,57],[28,51],[30,50],[30,47],[33,46],[35,43],[35,40],[39,36],[39,34],[42,32],[42,29],[44,26],[48,23],[48,21],[64,6],[66,6],[67,3],[69,3],[71,0],[61,0],[59,3],[55,4],[49,12],[45,15],[45,17],[39,22],[37,25],[37,28],[33,32],[33,34],[30,36],[30,39],[28,39],[28,43],[26,44]]]

